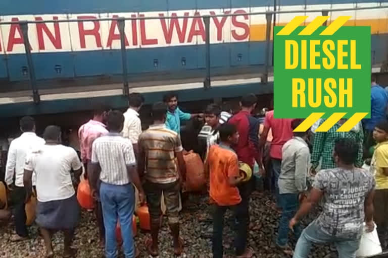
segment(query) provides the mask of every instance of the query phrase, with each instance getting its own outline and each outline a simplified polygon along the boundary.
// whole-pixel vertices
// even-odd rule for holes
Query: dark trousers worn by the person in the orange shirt
[[[231,209],[235,217],[236,235],[234,238],[234,246],[236,255],[241,255],[247,247],[247,231],[248,231],[248,199],[243,199],[241,203],[234,206],[219,206],[214,205],[213,213],[213,258],[222,258],[224,247],[222,245],[222,234],[224,230],[224,215],[227,209]]]

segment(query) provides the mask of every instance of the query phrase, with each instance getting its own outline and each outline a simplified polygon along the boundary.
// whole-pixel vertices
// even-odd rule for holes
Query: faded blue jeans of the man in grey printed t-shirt
[[[360,239],[361,237],[349,239],[328,235],[313,221],[303,230],[302,235],[299,237],[293,257],[307,258],[313,243],[333,243],[338,251],[338,258],[355,258],[356,251],[360,245]]]

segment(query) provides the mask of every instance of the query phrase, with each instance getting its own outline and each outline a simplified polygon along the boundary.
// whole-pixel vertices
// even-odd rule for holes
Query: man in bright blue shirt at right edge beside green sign
[[[376,83],[376,77],[372,75],[371,89],[370,89],[370,118],[363,119],[365,130],[365,145],[366,148],[374,145],[372,133],[374,126],[380,120],[386,118],[386,111],[388,105],[388,92]]]

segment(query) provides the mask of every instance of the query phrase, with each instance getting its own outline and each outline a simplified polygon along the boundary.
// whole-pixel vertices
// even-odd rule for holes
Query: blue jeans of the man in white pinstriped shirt
[[[100,198],[105,224],[105,256],[117,257],[116,224],[120,221],[125,258],[133,258],[134,241],[132,217],[135,204],[135,190],[131,183],[113,185],[101,182]]]

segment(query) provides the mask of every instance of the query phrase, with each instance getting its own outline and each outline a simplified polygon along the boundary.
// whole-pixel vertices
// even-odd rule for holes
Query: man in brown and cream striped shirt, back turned
[[[179,135],[166,128],[166,105],[157,102],[153,105],[154,123],[144,131],[137,142],[139,148],[138,171],[146,172],[144,190],[151,216],[152,241],[148,243],[151,255],[158,255],[158,233],[161,217],[161,195],[163,192],[168,221],[174,241],[174,253],[180,255],[183,243],[179,237],[179,189],[182,176],[186,173],[183,148]],[[179,170],[175,165],[177,159]]]

